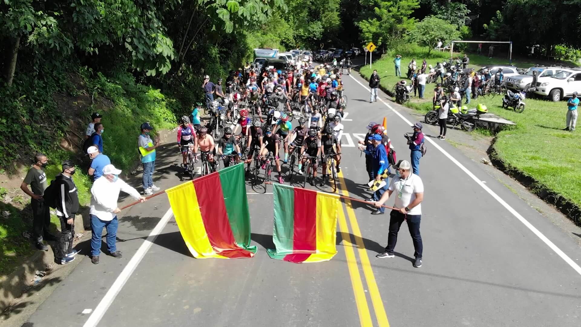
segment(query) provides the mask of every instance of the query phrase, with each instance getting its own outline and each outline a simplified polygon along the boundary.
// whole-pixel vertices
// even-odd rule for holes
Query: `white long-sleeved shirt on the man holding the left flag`
[[[113,210],[117,208],[119,191],[124,191],[138,200],[141,196],[137,190],[123,182],[120,178],[111,182],[105,176],[95,180],[91,187],[91,210],[89,214],[97,216],[102,221],[112,221],[116,214]]]

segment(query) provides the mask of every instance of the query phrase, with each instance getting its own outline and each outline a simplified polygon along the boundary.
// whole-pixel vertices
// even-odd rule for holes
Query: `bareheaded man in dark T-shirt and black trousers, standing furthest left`
[[[33,211],[33,235],[38,250],[48,251],[48,246],[42,243],[43,237],[47,241],[58,240],[49,232],[51,226],[51,213],[48,204],[45,204],[42,196],[48,187],[44,168],[48,165],[46,155],[37,153],[34,155],[34,164],[28,170],[26,177],[20,184],[20,189],[31,197],[30,207]],[[30,189],[28,189],[30,185]]]

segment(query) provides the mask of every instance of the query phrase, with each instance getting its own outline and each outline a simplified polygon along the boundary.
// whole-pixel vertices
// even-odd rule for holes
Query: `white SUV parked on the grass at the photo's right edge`
[[[535,94],[549,97],[554,102],[581,93],[581,68],[563,69],[553,76],[541,77],[537,81]]]

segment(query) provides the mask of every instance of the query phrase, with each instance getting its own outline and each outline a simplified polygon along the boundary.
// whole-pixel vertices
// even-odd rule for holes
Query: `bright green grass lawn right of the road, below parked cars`
[[[414,47],[411,47],[414,49]],[[415,48],[419,49],[419,48]],[[415,58],[418,66],[421,65],[422,56],[411,54],[401,54],[401,70],[407,73],[407,64],[411,58]],[[407,57],[406,57],[407,55]],[[442,61],[449,57],[449,52],[432,52],[432,58],[426,58],[428,63],[435,66],[437,61]],[[440,56],[438,58],[438,56]],[[507,60],[488,59],[483,56],[469,55],[471,63],[479,65],[469,65],[478,69],[481,65],[487,64],[507,64]],[[528,67],[534,63],[514,62],[513,65]],[[379,61],[376,61],[373,69],[378,70],[383,87],[391,90],[394,83],[401,80],[396,77],[393,66],[393,58],[388,54]],[[403,70],[406,70],[404,72]],[[361,68],[361,75],[368,77],[371,74],[369,66]],[[425,97],[427,100],[419,101],[412,98],[407,106],[419,111],[429,111],[432,108],[431,98],[435,84],[426,86]],[[480,97],[472,99],[469,108],[474,108],[476,104],[482,103],[487,106],[490,112],[496,113],[512,122],[517,123],[512,129],[503,130],[497,135],[494,148],[501,159],[510,166],[516,168],[525,175],[531,176],[546,186],[548,189],[561,194],[563,197],[581,206],[581,143],[579,133],[581,131],[562,131],[566,123],[567,105],[565,101],[550,102],[543,99],[525,99],[526,109],[523,113],[501,108],[502,97],[497,95],[494,98]],[[578,129],[579,130],[579,129]]]

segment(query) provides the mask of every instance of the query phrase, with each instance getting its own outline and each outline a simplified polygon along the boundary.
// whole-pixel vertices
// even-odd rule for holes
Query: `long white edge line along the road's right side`
[[[357,79],[355,79],[355,77],[353,77],[351,75],[349,75],[349,77],[351,77],[354,81],[356,81],[357,84],[359,84],[361,87],[365,88],[365,90],[370,91],[370,89],[368,89],[363,84],[361,84],[361,82],[358,81]],[[381,102],[383,102],[383,104],[388,106],[389,109],[392,109],[392,111],[394,113],[396,113],[396,115],[399,116],[401,119],[403,119],[403,121],[406,122],[409,126],[412,125],[409,120],[407,120],[403,115],[401,115],[401,113],[399,113],[399,111],[396,111],[395,109],[393,109],[389,104],[387,104],[385,101],[383,101],[383,99],[379,99],[379,100]],[[491,190],[488,186],[486,186],[484,183],[482,183],[482,181],[479,180],[478,177],[476,177],[474,175],[474,173],[472,173],[470,170],[468,170],[464,165],[462,165],[462,163],[457,161],[456,158],[452,157],[446,150],[444,150],[442,147],[440,147],[439,144],[437,144],[431,138],[425,138],[425,139],[428,140],[428,142],[431,143],[433,145],[433,147],[435,147],[437,150],[442,152],[442,154],[444,154],[446,157],[448,157],[448,159],[450,159],[452,162],[454,162],[456,164],[456,166],[458,166],[458,168],[460,168],[462,171],[467,173],[467,175],[470,176],[470,178],[473,179],[474,182],[476,182],[476,184],[480,185],[480,187],[482,187],[482,189],[484,189],[488,194],[490,194],[496,201],[498,201],[498,203],[500,203],[512,215],[514,215],[519,221],[521,221],[528,229],[530,229],[531,232],[533,232],[537,237],[539,237],[539,239],[541,239],[541,241],[543,241],[545,244],[547,244],[547,246],[550,247],[551,250],[553,250],[555,253],[557,253],[557,255],[559,255],[559,257],[561,257],[562,260],[564,260],[567,264],[569,264],[569,266],[571,266],[571,268],[575,269],[575,271],[577,273],[579,273],[579,275],[581,275],[581,266],[579,266],[578,264],[575,263],[575,261],[573,261],[571,258],[569,258],[569,256],[566,255],[560,248],[558,248],[551,240],[549,240],[546,236],[544,236],[544,234],[541,233],[538,229],[536,229],[535,226],[533,226],[529,221],[527,221],[521,214],[519,214],[514,208],[512,208],[506,201],[504,201],[501,197],[499,197],[498,194],[494,193],[493,190]]]

